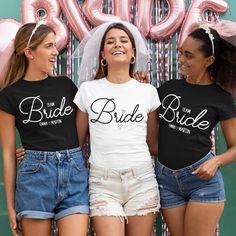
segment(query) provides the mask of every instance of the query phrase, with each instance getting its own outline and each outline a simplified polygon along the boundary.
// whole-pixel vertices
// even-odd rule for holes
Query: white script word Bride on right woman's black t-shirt
[[[174,120],[176,123],[184,126],[192,126],[193,128],[198,128],[205,130],[209,128],[209,121],[202,120],[202,118],[207,113],[207,109],[203,109],[196,117],[189,116],[189,111],[185,114],[180,114],[178,109],[181,105],[181,96],[175,94],[167,95],[162,101],[162,107],[164,108],[164,113],[160,113],[159,117],[163,118],[166,122],[171,123]]]

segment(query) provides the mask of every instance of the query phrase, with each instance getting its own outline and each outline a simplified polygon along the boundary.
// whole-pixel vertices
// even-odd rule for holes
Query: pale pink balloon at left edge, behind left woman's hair
[[[0,19],[0,87],[3,83],[7,63],[14,52],[14,39],[21,23],[13,19]]]

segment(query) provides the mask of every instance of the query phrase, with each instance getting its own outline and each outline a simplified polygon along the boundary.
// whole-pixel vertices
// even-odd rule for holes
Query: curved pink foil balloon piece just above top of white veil
[[[103,0],[85,0],[84,2],[83,13],[94,26],[98,26],[105,22],[120,20],[120,17],[118,16],[102,13],[102,7]]]

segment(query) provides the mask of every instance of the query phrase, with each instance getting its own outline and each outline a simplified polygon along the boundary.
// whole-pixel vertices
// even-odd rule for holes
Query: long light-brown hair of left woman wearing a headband
[[[14,52],[8,62],[3,87],[7,87],[24,77],[28,68],[28,59],[25,56],[24,49],[27,47],[35,27],[36,23],[27,23],[18,30],[14,40]],[[29,48],[35,50],[45,37],[52,32],[55,33],[51,27],[44,24],[40,25],[30,40]]]

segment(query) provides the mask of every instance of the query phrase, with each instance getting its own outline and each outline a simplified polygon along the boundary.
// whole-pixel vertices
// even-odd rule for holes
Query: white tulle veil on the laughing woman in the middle
[[[80,60],[80,66],[78,68],[78,87],[81,85],[81,83],[94,79],[100,63],[99,50],[102,37],[106,29],[114,23],[123,24],[134,37],[136,47],[134,72],[147,72],[148,49],[146,39],[141,35],[138,28],[133,24],[130,24],[126,21],[112,21],[103,23],[98,27],[93,28],[89,34],[83,38],[73,53],[74,58],[78,58]]]

